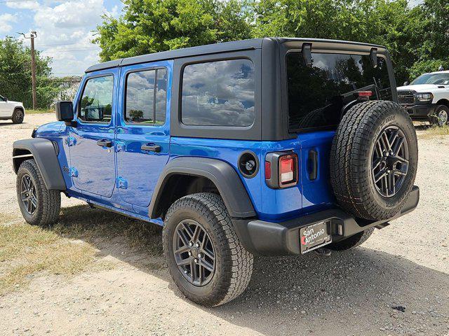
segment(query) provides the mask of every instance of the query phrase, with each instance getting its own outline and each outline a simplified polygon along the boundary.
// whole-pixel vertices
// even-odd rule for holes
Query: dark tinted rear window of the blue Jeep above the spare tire
[[[354,91],[369,90],[372,100],[391,100],[383,57],[377,57],[374,68],[369,55],[312,52],[312,66],[306,66],[301,52],[290,52],[286,67],[290,132],[336,127],[343,106],[355,99]]]

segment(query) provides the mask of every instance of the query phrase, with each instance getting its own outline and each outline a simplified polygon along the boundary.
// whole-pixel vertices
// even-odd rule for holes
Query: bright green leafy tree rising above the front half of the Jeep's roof
[[[95,43],[102,61],[249,38],[238,0],[124,0],[124,15],[103,17]]]

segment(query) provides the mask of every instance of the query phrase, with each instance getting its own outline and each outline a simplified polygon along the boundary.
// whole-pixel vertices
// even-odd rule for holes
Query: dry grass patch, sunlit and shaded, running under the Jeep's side
[[[0,296],[26,286],[39,272],[71,276],[108,268],[111,262],[96,262],[94,246],[101,250],[116,238],[149,256],[162,253],[159,226],[109,211],[63,208],[59,223],[51,228],[28,225],[20,215],[0,214]]]

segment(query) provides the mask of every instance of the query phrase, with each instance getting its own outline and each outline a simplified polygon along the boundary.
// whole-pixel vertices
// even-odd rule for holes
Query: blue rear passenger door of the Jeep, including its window
[[[124,67],[116,151],[119,195],[145,214],[168,162],[172,62]]]

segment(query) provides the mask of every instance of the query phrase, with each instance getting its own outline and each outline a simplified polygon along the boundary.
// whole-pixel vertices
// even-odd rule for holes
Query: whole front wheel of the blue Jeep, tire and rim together
[[[20,165],[16,190],[20,211],[27,223],[45,226],[58,221],[61,193],[46,188],[34,160],[26,160]]]

